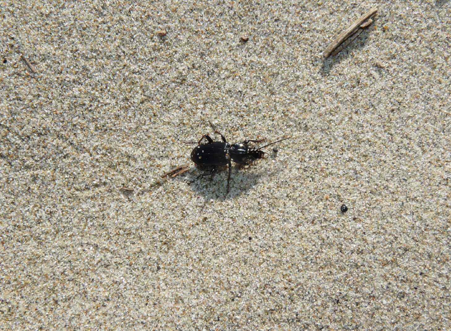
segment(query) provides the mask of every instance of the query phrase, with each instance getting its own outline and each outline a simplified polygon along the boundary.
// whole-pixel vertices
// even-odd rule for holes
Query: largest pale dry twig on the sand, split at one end
[[[373,7],[368,12],[359,17],[354,23],[350,25],[349,28],[345,29],[336,39],[327,46],[323,53],[324,58],[331,55],[335,55],[340,52],[343,48],[348,46],[361,32],[362,29],[367,28],[371,23],[373,23],[372,16],[377,13],[377,7]],[[352,36],[352,38],[350,38]],[[348,42],[343,44],[343,42],[350,38]]]

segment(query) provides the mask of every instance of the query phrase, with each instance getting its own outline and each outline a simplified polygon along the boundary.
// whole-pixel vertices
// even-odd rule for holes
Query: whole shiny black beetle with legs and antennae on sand
[[[241,143],[230,145],[226,138],[218,131],[215,133],[221,135],[222,141],[213,141],[209,135],[202,135],[202,138],[198,141],[198,145],[194,147],[191,152],[191,160],[199,166],[212,167],[212,171],[209,173],[200,174],[194,181],[203,176],[212,176],[216,171],[216,166],[229,165],[229,176],[227,177],[227,193],[229,193],[230,173],[232,172],[232,162],[248,165],[249,160],[263,159],[263,155],[266,154],[261,149],[269,145],[276,144],[282,140],[289,139],[284,138],[277,140],[271,144],[264,145],[260,148],[249,147],[249,142],[259,143],[260,140],[244,140]],[[201,144],[202,139],[206,139],[207,144]],[[194,182],[193,181],[193,182]]]

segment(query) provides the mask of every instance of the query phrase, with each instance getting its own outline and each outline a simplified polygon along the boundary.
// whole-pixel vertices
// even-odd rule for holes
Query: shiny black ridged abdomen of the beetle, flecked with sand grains
[[[191,152],[191,160],[198,165],[226,165],[229,163],[227,154],[230,145],[224,142],[201,144],[194,147]]]

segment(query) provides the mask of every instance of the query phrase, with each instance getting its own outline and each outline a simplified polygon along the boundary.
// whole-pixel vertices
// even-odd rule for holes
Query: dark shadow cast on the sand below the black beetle
[[[253,165],[255,166],[255,164]],[[253,186],[260,182],[263,172],[248,172],[247,169],[241,168],[235,164],[232,166],[232,173],[230,175],[230,189],[227,191],[227,166],[218,167],[215,175],[200,177],[195,182],[192,182],[199,174],[207,172],[208,168],[196,168],[196,171],[190,172],[185,178],[188,179],[191,189],[197,192],[198,195],[204,197],[206,201],[209,200],[229,200],[245,194]]]

